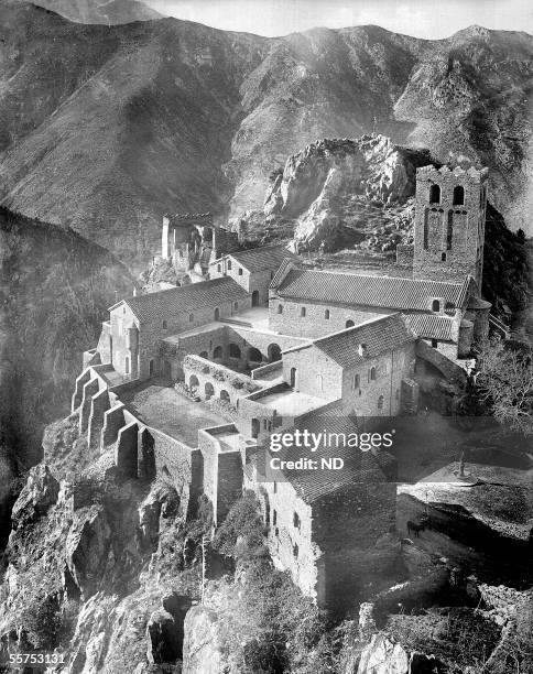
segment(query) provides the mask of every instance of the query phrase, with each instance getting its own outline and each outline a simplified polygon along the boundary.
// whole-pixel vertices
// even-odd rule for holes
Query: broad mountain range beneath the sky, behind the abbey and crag
[[[0,0],[0,200],[140,268],[165,210],[238,216],[307,143],[377,131],[489,165],[491,200],[526,228],[532,55],[531,35],[479,28],[266,39]]]

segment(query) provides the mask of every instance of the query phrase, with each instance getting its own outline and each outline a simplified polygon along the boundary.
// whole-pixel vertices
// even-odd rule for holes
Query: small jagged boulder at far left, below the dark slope
[[[58,493],[59,483],[45,464],[31,468],[11,512],[13,529],[20,529],[46,514],[56,503]]]

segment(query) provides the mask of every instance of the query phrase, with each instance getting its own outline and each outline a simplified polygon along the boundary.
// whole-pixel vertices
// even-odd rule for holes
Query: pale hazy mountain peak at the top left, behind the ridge
[[[162,14],[137,0],[34,0],[33,4],[77,23],[117,25],[162,18]]]

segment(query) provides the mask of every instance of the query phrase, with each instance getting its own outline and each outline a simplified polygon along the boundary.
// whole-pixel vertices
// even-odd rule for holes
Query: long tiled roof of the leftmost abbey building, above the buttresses
[[[161,319],[180,312],[217,306],[222,302],[247,297],[246,291],[229,276],[182,285],[159,293],[124,300],[141,323]],[[117,306],[117,305],[115,305]]]

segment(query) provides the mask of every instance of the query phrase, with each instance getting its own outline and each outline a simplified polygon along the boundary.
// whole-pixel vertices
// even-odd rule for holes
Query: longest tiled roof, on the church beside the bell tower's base
[[[469,278],[460,284],[293,269],[279,285],[278,294],[330,304],[427,311],[432,297],[463,306],[469,282]]]

